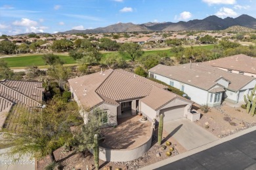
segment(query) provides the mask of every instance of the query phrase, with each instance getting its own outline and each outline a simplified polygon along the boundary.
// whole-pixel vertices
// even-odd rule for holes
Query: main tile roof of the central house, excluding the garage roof
[[[104,102],[119,105],[117,101],[145,97],[150,94],[153,86],[167,88],[167,86],[122,69],[110,69],[103,73],[72,78],[68,82],[79,102],[89,109]]]

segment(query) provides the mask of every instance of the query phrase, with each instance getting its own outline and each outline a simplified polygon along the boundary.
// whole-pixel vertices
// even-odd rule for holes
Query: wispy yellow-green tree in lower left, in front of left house
[[[71,126],[82,124],[77,103],[65,103],[61,97],[54,97],[41,112],[29,112],[19,108],[16,124],[21,129],[18,133],[6,131],[1,144],[11,145],[9,156],[31,154],[33,158],[43,158],[63,146],[73,138]]]

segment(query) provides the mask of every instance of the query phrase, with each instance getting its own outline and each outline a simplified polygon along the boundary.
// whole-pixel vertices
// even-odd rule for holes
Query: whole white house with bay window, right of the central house
[[[149,70],[149,76],[180,89],[192,101],[210,107],[221,105],[223,100],[244,101],[244,95],[256,84],[251,76],[228,73],[202,63],[156,65]]]

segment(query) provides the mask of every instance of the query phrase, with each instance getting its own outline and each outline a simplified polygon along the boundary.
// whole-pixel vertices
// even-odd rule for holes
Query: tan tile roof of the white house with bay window
[[[251,76],[229,73],[215,67],[209,67],[202,63],[192,63],[191,69],[190,63],[171,67],[159,64],[150,69],[149,72],[177,80],[184,84],[190,84],[191,86],[207,91],[217,84],[215,81],[220,77],[224,77],[230,81],[227,89],[234,92],[237,92],[255,79]]]

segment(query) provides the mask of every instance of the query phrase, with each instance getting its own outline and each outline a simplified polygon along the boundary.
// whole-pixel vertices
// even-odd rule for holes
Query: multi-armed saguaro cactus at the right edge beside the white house
[[[246,112],[250,112],[251,115],[254,116],[256,109],[256,85],[253,88],[253,91],[251,91],[251,95],[247,94],[247,98],[246,95],[244,95],[244,101],[246,103]]]

